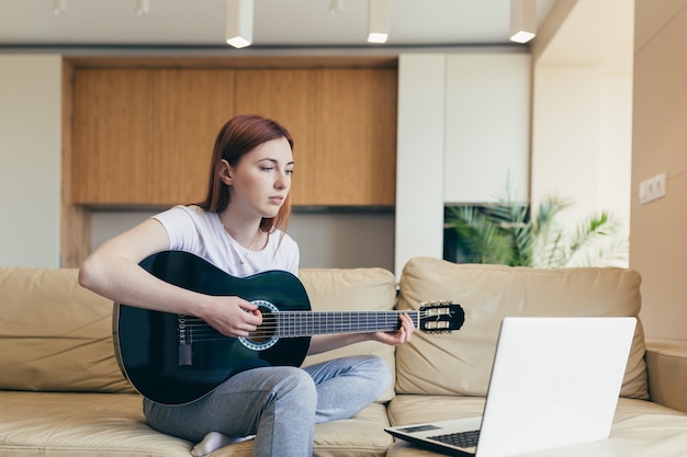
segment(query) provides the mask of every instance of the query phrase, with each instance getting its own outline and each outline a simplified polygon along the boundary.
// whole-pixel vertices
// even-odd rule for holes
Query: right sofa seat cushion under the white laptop
[[[481,415],[484,398],[398,395],[388,405],[392,425],[431,422]],[[623,457],[684,457],[687,449],[687,413],[646,400],[620,398],[606,444]],[[562,449],[561,449],[562,450]],[[436,454],[396,441],[388,457],[420,457]],[[532,453],[531,456],[556,457],[565,452]],[[528,454],[527,456],[530,456]],[[525,456],[523,456],[525,457]]]

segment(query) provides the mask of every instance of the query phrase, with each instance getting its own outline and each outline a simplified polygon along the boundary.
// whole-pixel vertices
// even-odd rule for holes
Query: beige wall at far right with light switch
[[[687,341],[687,0],[635,1],[630,266],[642,275],[647,338]],[[667,174],[640,205],[641,181]]]

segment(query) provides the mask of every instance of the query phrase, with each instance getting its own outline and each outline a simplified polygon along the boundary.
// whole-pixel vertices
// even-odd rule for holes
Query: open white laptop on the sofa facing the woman
[[[505,318],[482,416],[384,430],[457,456],[578,444],[592,455],[588,444],[610,434],[635,325],[632,317]]]

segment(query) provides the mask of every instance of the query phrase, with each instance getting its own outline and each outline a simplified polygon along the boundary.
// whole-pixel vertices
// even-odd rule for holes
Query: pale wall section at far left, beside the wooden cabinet
[[[0,55],[0,265],[59,266],[61,57]]]

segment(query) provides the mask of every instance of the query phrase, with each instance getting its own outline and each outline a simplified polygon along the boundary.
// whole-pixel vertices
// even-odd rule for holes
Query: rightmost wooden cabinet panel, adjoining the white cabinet
[[[394,69],[323,69],[318,78],[315,205],[393,205]]]

